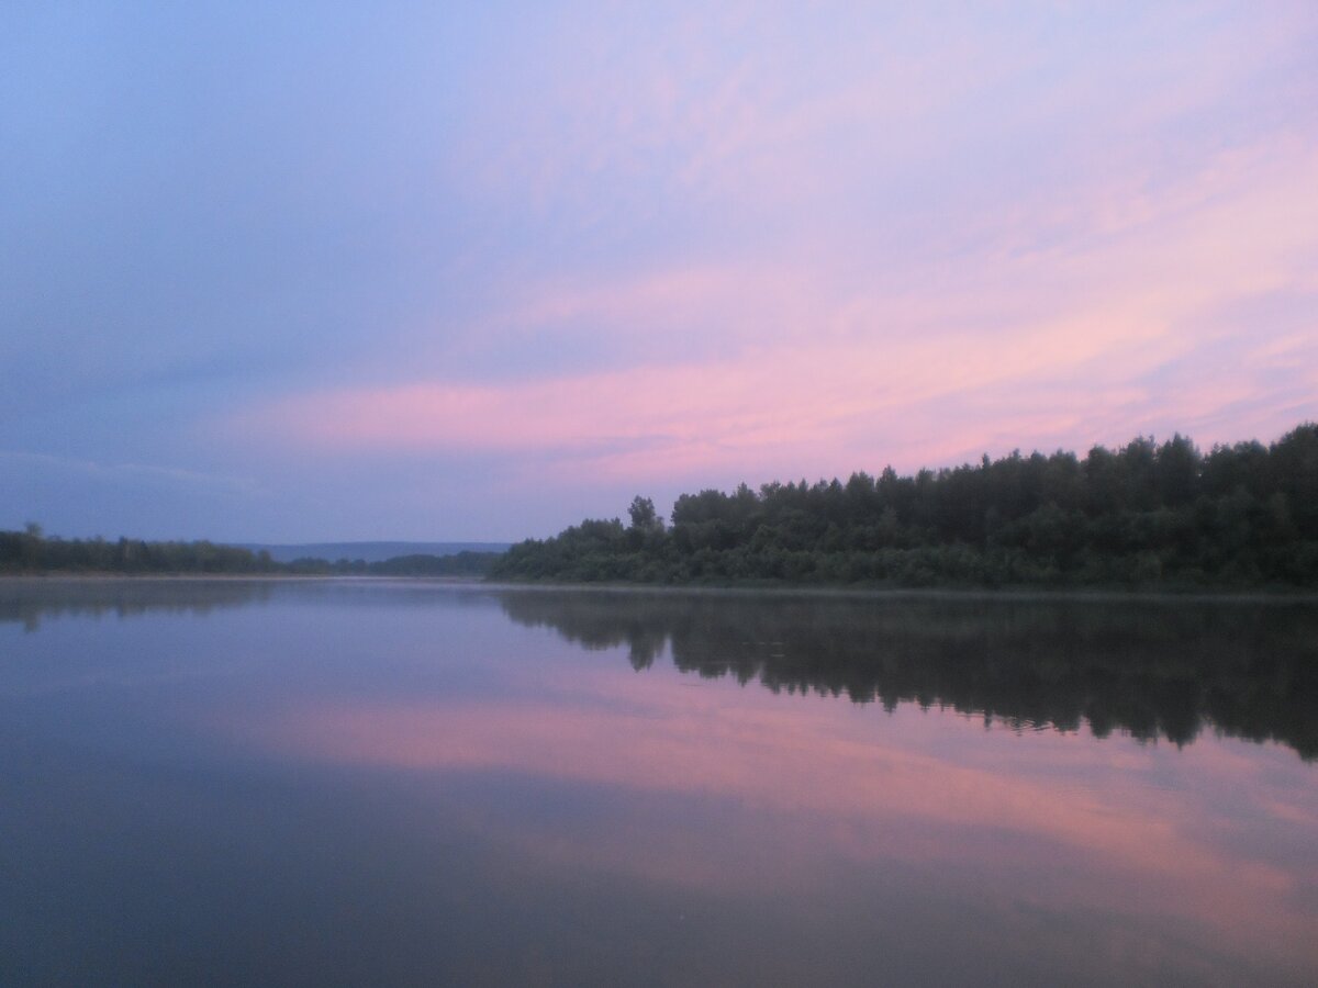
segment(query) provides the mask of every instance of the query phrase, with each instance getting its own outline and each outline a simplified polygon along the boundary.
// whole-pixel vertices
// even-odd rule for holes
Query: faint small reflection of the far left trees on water
[[[0,584],[0,623],[20,622],[36,631],[42,618],[208,614],[266,601],[273,586],[240,580],[7,580]]]

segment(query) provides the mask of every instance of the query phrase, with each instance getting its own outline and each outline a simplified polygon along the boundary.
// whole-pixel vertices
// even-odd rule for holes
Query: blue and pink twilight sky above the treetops
[[[1318,4],[0,7],[0,528],[517,540],[1318,419]]]

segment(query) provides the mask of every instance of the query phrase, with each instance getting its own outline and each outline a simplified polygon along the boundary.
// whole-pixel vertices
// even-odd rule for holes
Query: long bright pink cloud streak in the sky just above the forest
[[[1223,404],[1260,398],[1257,379],[1240,366],[1194,393],[1151,395],[1139,379],[1195,346],[1193,335],[1176,331],[1174,306],[1162,317],[1149,315],[1155,308],[1133,299],[994,336],[825,335],[734,358],[554,379],[339,389],[257,408],[240,425],[335,454],[535,453],[569,472],[662,478],[713,468],[845,473],[874,469],[879,456],[919,457],[905,462],[920,465],[938,462],[942,449],[996,448],[1008,431],[1014,444],[1052,435],[1122,441],[1151,404],[1189,428]],[[1304,346],[1273,344],[1268,360]],[[1021,403],[1024,418],[1010,411]],[[1132,407],[1141,410],[1133,422]],[[912,435],[907,423],[923,416],[927,427]],[[1097,420],[1111,425],[1095,435]],[[1052,425],[1041,429],[1041,422]],[[931,441],[938,435],[942,448]]]

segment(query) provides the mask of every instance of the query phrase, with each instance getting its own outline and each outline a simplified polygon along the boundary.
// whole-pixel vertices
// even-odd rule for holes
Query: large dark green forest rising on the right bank
[[[1318,586],[1318,425],[1271,445],[1139,437],[899,476],[683,494],[494,560],[510,581],[963,588]]]

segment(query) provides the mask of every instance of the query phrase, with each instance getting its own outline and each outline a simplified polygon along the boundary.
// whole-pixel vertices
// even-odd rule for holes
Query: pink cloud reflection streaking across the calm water
[[[1044,908],[1191,918],[1224,943],[1267,938],[1297,960],[1318,942],[1318,916],[1296,896],[1318,885],[1318,860],[1247,839],[1257,829],[1304,847],[1318,827],[1313,769],[1275,748],[1016,738],[952,714],[888,718],[625,671],[583,673],[569,693],[546,674],[519,700],[326,702],[229,728],[314,760],[526,773],[729,808],[734,830],[718,834],[672,833],[671,817],[589,835],[489,823],[536,856],[647,881],[763,893],[809,888],[820,862],[887,862],[1002,883],[995,894]]]

